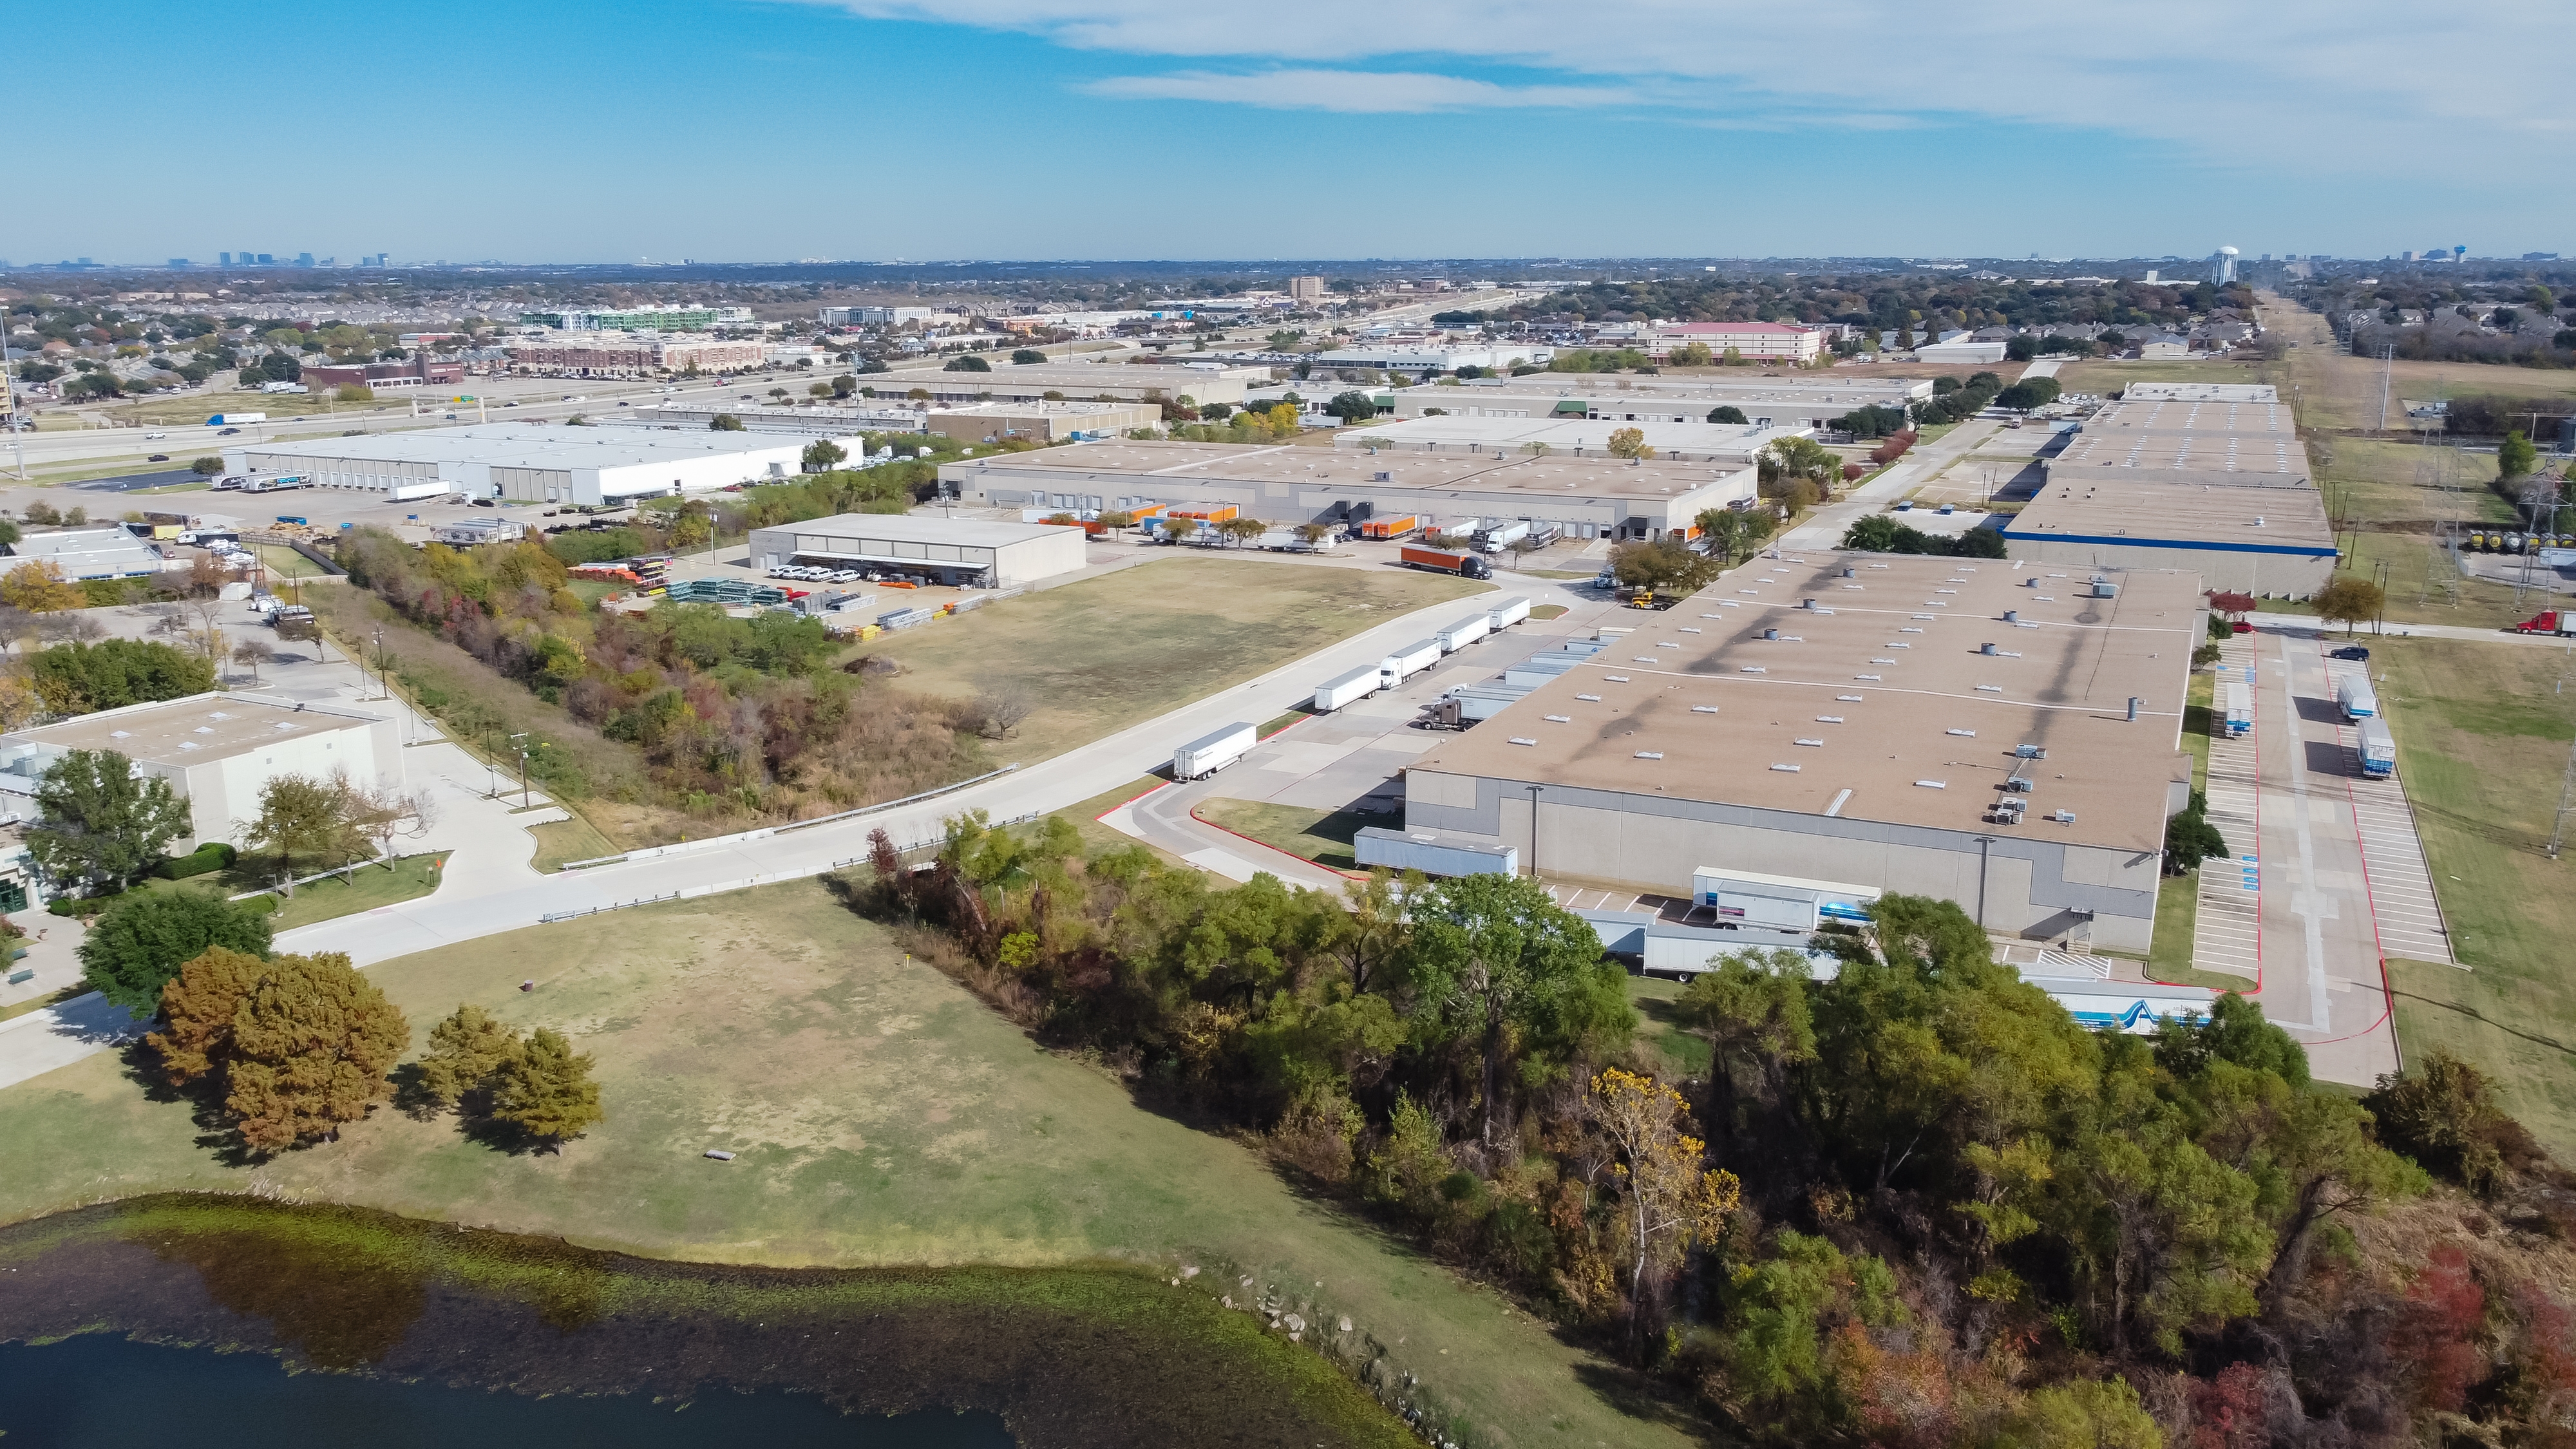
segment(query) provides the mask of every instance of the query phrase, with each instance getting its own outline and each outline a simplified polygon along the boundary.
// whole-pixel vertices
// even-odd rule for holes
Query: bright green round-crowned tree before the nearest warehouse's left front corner
[[[1577,993],[1602,959],[1587,920],[1528,877],[1476,874],[1427,887],[1412,902],[1412,982],[1427,1011],[1479,1036],[1484,1142],[1504,1124],[1512,1036]]]

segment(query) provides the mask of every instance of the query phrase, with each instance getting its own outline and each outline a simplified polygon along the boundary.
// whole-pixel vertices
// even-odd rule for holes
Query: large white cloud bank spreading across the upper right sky
[[[2406,162],[2519,173],[2576,131],[2530,54],[2566,26],[2558,0],[1309,0],[1291,13],[1206,0],[804,0],[868,18],[1018,31],[1133,57],[1249,64],[1535,70],[1564,85],[1406,75],[1425,108],[1602,106],[1651,93],[1677,121],[1832,126],[1826,116],[1986,119],[2174,142],[2251,168],[2388,173]],[[1314,93],[1273,77],[1337,75]],[[1358,75],[1358,77],[1352,77]],[[1247,106],[1365,98],[1370,72],[1190,70],[1121,77],[1108,95]],[[1607,88],[1584,85],[1607,80]],[[1551,98],[1553,95],[1553,98]],[[1396,108],[1324,103],[1324,108]],[[1412,106],[1406,106],[1412,108]],[[1801,116],[1816,116],[1801,121]],[[1850,121],[1844,121],[1850,124]]]

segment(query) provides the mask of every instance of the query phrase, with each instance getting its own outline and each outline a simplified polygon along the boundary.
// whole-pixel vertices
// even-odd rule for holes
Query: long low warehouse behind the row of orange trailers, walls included
[[[1234,505],[1267,523],[1476,518],[1558,523],[1577,539],[1687,534],[1708,508],[1754,498],[1752,467],[1535,454],[1386,454],[1242,443],[1079,443],[940,467],[961,503],[1103,513]]]

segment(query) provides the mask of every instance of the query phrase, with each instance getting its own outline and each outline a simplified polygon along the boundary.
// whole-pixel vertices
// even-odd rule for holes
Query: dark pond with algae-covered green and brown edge
[[[737,1269],[149,1196],[0,1227],[0,1434],[198,1449],[1417,1444],[1203,1287]]]

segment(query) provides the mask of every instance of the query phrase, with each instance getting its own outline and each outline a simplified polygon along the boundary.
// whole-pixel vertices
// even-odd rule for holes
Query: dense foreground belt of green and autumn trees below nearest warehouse
[[[878,835],[845,890],[1728,1439],[2537,1444],[2576,1408],[2576,1181],[2473,1070],[2354,1101],[2233,995],[2089,1031],[1950,902],[1721,957],[1656,1006],[1708,1049],[1685,1075],[1530,879],[1216,887],[966,815],[927,864]],[[2524,1227],[2488,1250],[2465,1212]],[[2427,1256],[2391,1217],[2447,1227]]]

